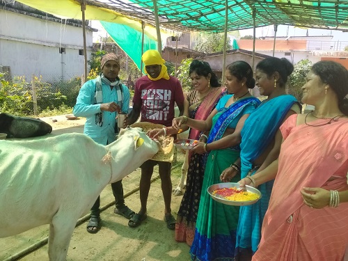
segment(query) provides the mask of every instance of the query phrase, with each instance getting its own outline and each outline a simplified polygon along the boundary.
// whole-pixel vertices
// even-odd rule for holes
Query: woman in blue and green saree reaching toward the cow
[[[253,70],[244,61],[236,61],[226,68],[226,88],[207,120],[193,120],[181,116],[173,120],[173,127],[188,125],[193,129],[210,130],[207,143],[200,142],[192,152],[207,155],[196,230],[191,246],[192,260],[233,260],[235,232],[239,208],[223,205],[210,198],[207,187],[219,183],[221,172],[239,158],[240,131],[248,115],[260,104],[248,92],[255,86]],[[207,153],[209,152],[209,154]],[[239,175],[235,176],[237,182]]]

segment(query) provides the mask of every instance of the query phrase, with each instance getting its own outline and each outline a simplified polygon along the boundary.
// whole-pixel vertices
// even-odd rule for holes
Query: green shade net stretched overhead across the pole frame
[[[154,10],[152,0],[129,0],[145,10]],[[254,26],[287,24],[317,29],[347,29],[348,1],[299,0],[157,0],[159,23],[191,31],[249,29]]]

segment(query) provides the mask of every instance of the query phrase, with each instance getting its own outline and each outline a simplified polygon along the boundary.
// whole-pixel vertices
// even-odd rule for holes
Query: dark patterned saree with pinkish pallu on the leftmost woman
[[[190,118],[205,120],[215,108],[216,103],[223,95],[223,88],[214,88],[202,102],[194,102],[189,106]],[[198,140],[200,131],[190,129],[189,139]],[[186,242],[191,246],[196,228],[200,193],[202,191],[205,170],[204,155],[189,154],[189,169],[187,171],[187,184],[184,196],[180,203],[175,223],[175,240]]]

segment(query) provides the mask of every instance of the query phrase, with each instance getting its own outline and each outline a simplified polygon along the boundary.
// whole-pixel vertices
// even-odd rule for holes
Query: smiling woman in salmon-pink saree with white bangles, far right
[[[302,89],[302,102],[313,104],[315,111],[290,116],[280,127],[278,160],[253,180],[240,181],[257,186],[276,177],[254,261],[345,258],[348,71],[333,61],[320,61]]]

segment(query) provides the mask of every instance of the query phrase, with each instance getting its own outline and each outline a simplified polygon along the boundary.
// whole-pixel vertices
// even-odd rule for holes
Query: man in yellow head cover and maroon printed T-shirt
[[[180,115],[184,111],[184,94],[180,81],[168,75],[164,59],[156,50],[148,50],[141,57],[147,75],[140,77],[134,86],[133,109],[125,120],[132,125],[141,115],[141,121],[171,126],[174,106]],[[124,127],[124,126],[119,126]],[[140,201],[141,209],[129,220],[128,226],[136,228],[146,219],[150,181],[155,165],[159,166],[161,188],[164,198],[164,221],[167,228],[175,229],[175,218],[171,214],[171,162],[148,160],[141,166]]]

